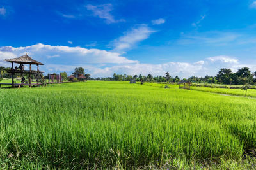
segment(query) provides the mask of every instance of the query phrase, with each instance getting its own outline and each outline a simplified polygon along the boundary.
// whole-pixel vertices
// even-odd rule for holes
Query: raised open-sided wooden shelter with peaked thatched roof
[[[21,57],[18,57],[18,58],[14,58],[14,59],[6,59],[5,61],[12,63],[12,68],[7,70],[8,73],[12,74],[12,84],[10,84],[10,83],[2,83],[2,84],[12,85],[12,87],[16,87],[16,86],[20,87],[20,85],[28,85],[29,87],[31,87],[31,85],[33,85],[33,86],[45,85],[44,76],[43,76],[44,72],[39,71],[39,65],[44,65],[41,62],[33,60],[27,54],[23,55]],[[14,68],[13,64],[15,64],[15,63],[20,64],[19,68],[17,66]],[[24,69],[24,64],[29,64],[29,70]],[[36,65],[37,70],[36,71],[32,70],[31,65]],[[21,74],[22,83],[14,83],[15,74]],[[24,74],[28,74],[28,81],[25,81]],[[33,76],[36,79],[36,84],[31,83],[31,78],[33,78]],[[39,83],[39,81],[40,81],[40,83]]]

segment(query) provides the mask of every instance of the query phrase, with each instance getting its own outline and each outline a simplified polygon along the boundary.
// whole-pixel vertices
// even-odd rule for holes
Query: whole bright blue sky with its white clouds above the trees
[[[28,53],[45,73],[84,67],[188,78],[256,71],[256,1],[0,0],[0,65]]]

